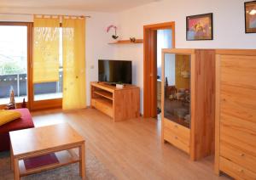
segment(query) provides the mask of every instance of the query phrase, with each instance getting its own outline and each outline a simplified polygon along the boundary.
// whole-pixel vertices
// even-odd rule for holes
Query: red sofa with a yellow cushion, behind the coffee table
[[[10,121],[9,123],[6,123],[0,127],[0,152],[9,150],[10,148],[9,132],[34,127],[32,115],[30,114],[29,110],[16,109],[16,111],[21,113],[20,119]]]

